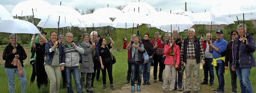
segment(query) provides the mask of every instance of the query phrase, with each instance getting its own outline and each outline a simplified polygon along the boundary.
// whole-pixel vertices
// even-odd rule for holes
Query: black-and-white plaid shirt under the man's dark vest
[[[195,38],[194,38],[195,39]],[[191,41],[191,40],[188,40],[188,47],[187,47],[187,55],[186,57],[187,58],[196,58],[196,49],[194,47],[194,39]],[[200,44],[200,55],[201,55],[201,59],[202,61],[204,61],[204,47],[203,47],[203,44],[202,44],[202,41],[199,39],[199,44]],[[181,46],[181,51],[180,51],[180,55],[183,55],[184,54],[184,41],[182,42],[182,46]],[[180,56],[180,61],[183,61],[183,56]]]

